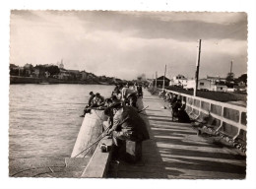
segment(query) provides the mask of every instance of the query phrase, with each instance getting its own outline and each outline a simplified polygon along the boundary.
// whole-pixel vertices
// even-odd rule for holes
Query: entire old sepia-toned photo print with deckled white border
[[[240,187],[255,168],[250,23],[245,9],[10,9],[5,176]]]

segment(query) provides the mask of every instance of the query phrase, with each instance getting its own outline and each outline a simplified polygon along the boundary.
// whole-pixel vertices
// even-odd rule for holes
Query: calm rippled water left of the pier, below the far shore
[[[91,91],[105,97],[113,86],[11,85],[9,157],[70,157]]]

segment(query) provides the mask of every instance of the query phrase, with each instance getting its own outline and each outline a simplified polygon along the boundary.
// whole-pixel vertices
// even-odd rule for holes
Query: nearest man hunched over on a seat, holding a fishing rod
[[[108,134],[112,134],[114,144],[113,158],[125,158],[132,161],[140,160],[140,152],[135,150],[134,157],[136,158],[127,159],[129,157],[125,157],[126,153],[122,153],[122,151],[124,151],[127,141],[141,144],[143,141],[150,139],[146,123],[134,107],[113,103],[107,109],[105,111],[111,111],[113,115],[113,125],[108,131]]]

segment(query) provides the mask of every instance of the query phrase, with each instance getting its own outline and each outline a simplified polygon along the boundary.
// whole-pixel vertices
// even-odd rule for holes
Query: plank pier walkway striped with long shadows
[[[151,139],[143,143],[136,164],[120,161],[109,167],[109,177],[169,179],[243,179],[246,158],[234,149],[218,146],[197,135],[190,124],[173,122],[159,96],[144,92],[143,115]]]

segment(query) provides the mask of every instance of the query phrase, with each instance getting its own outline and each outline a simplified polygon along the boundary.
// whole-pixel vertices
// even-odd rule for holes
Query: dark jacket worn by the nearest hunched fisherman
[[[134,107],[124,106],[113,117],[113,130],[125,133],[131,141],[150,139],[147,124]]]

